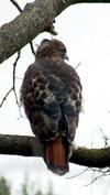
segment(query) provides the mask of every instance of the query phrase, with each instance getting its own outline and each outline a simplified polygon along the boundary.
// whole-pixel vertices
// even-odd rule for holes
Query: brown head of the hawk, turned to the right
[[[44,39],[36,51],[36,58],[52,57],[68,59],[65,45],[58,40]]]

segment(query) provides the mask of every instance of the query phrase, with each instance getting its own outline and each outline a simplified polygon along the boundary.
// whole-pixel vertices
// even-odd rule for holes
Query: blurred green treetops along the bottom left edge
[[[35,187],[35,185],[34,185]],[[11,195],[11,186],[9,185],[6,177],[0,177],[0,195]],[[23,184],[20,187],[20,193],[18,195],[54,195],[52,185],[50,184],[48,191],[44,194],[41,189],[34,192],[30,188],[30,182],[25,177]]]

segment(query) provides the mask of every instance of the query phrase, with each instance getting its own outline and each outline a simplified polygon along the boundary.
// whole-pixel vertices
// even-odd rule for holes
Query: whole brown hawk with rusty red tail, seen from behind
[[[81,109],[80,79],[65,58],[66,47],[61,41],[43,40],[21,87],[21,100],[44,161],[59,175],[69,170],[70,144]]]

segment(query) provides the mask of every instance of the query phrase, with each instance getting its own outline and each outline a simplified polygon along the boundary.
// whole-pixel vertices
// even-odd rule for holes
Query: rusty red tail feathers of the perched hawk
[[[67,148],[61,134],[46,145],[45,162],[47,167],[58,175],[64,175],[69,170]]]

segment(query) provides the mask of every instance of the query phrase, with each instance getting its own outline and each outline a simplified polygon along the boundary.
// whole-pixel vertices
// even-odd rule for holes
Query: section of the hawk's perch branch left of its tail
[[[0,154],[42,156],[42,151],[34,137],[0,134]]]

